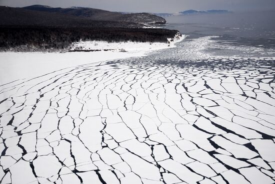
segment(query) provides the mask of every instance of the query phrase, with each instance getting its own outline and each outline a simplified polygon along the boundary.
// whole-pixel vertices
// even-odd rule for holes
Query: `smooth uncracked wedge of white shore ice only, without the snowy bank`
[[[74,53],[0,53],[0,85],[18,79],[29,79],[63,68],[105,60],[142,56],[144,53],[117,51]]]

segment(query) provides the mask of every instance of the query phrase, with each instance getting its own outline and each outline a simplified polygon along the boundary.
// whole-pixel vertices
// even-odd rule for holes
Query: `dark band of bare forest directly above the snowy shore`
[[[68,50],[73,42],[167,42],[176,30],[142,28],[0,27],[0,50]]]

